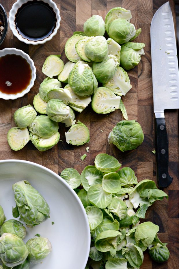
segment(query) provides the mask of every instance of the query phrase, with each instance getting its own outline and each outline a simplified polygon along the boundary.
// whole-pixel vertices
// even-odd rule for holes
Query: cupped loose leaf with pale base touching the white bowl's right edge
[[[90,230],[94,230],[102,222],[102,211],[96,206],[87,206],[85,211],[90,225]]]

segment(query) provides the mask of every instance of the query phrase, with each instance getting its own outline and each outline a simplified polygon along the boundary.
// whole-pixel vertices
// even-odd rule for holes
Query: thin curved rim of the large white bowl
[[[29,161],[26,161],[26,160],[15,160],[15,159],[10,159],[10,160],[0,160],[0,165],[3,164],[3,163],[24,163],[24,164],[30,164],[30,165],[33,165],[33,166],[36,166],[36,167],[39,167],[45,171],[47,171],[48,173],[51,173],[53,176],[55,176],[57,178],[57,180],[59,180],[62,184],[64,184],[64,186],[66,186],[66,188],[72,193],[72,195],[74,195],[74,197],[76,198],[82,212],[83,212],[83,215],[84,215],[84,218],[85,218],[85,223],[86,223],[86,228],[87,228],[87,235],[86,235],[86,239],[88,241],[88,248],[87,248],[87,252],[86,252],[86,257],[85,257],[85,260],[84,260],[84,264],[83,264],[83,268],[85,268],[86,264],[87,264],[87,260],[88,260],[88,257],[89,257],[89,253],[90,253],[90,243],[91,243],[91,234],[90,234],[90,226],[89,226],[89,223],[88,223],[88,219],[87,219],[87,215],[86,215],[86,211],[85,211],[85,208],[80,200],[80,198],[78,197],[78,195],[75,193],[75,191],[73,191],[73,189],[68,185],[68,183],[62,178],[60,177],[58,174],[56,174],[55,172],[53,172],[52,170],[50,170],[49,168],[46,168],[45,166],[41,165],[41,164],[37,164],[35,162],[29,162]],[[83,269],[81,268],[81,269]]]

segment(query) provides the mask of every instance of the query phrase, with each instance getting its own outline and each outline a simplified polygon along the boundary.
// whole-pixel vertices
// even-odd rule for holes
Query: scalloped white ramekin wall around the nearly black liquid
[[[14,5],[12,6],[10,12],[9,12],[9,26],[14,34],[14,36],[16,36],[18,38],[18,40],[23,41],[24,43],[28,44],[28,45],[38,45],[38,44],[44,44],[46,41],[49,41],[52,39],[53,36],[55,36],[55,34],[57,33],[57,30],[60,27],[60,21],[61,21],[61,17],[60,17],[60,12],[59,9],[57,8],[57,5],[52,1],[52,0],[42,0],[44,3],[48,3],[50,7],[53,8],[53,11],[56,14],[56,26],[55,29],[53,30],[53,33],[50,34],[49,37],[46,37],[43,40],[37,40],[37,41],[30,41],[28,39],[23,38],[17,31],[16,29],[16,25],[15,25],[15,16],[17,14],[17,10],[18,8],[20,8],[23,4],[29,2],[29,1],[33,1],[33,0],[17,0],[16,3],[14,3]],[[40,0],[37,0],[40,1]]]

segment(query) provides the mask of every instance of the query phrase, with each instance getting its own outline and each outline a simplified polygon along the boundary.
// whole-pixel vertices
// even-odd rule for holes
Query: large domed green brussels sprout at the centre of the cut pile
[[[91,67],[82,61],[78,61],[74,65],[68,77],[68,83],[74,93],[82,97],[93,94],[98,87]]]

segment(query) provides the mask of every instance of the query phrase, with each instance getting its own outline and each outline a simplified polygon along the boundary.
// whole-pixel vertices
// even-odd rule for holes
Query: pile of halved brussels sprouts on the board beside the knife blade
[[[65,133],[67,143],[82,145],[89,142],[89,130],[82,122],[75,124],[74,111],[82,112],[90,102],[98,114],[120,109],[128,120],[121,96],[132,86],[124,69],[138,65],[145,46],[144,43],[130,42],[141,32],[141,29],[135,30],[131,18],[130,10],[120,7],[111,9],[105,22],[94,15],[84,23],[84,32],[74,32],[66,42],[65,54],[69,61],[65,65],[61,55],[46,58],[42,72],[47,77],[33,99],[35,109],[28,105],[14,113],[17,127],[8,132],[11,149],[22,149],[29,140],[39,151],[51,149],[60,138],[58,122],[70,127]],[[105,31],[108,39],[103,36]],[[36,111],[40,115],[37,116]],[[137,122],[131,122],[134,121],[130,121],[130,129],[137,125]],[[121,136],[118,129],[115,129],[117,137]],[[113,138],[110,135],[109,142],[113,142]],[[142,141],[141,136],[137,146]],[[122,151],[131,149],[118,148],[123,148]]]

